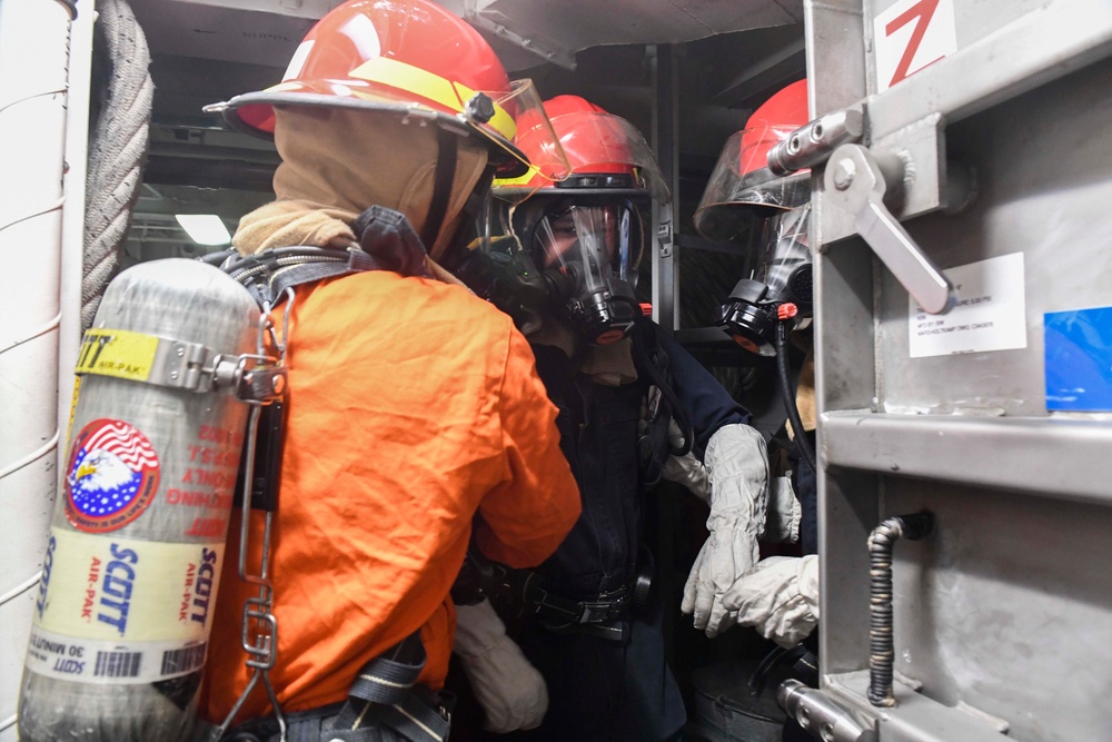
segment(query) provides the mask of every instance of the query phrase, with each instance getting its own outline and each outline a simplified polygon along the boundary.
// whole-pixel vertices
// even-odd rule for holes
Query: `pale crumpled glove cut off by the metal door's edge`
[[[726,591],[723,603],[737,623],[793,647],[818,623],[818,556],[770,556]]]

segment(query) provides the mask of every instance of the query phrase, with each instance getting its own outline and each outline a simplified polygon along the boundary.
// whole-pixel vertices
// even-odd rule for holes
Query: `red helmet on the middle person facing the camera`
[[[563,151],[554,152],[549,126]],[[495,180],[494,192],[505,200],[533,195],[672,198],[636,127],[579,96],[557,96],[545,101],[543,111],[519,115],[515,144],[533,165],[524,176]]]

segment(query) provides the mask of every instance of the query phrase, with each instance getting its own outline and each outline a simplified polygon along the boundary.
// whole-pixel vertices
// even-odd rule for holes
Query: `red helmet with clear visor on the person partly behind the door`
[[[810,120],[807,81],[798,80],[773,95],[726,140],[695,210],[695,228],[704,237],[731,239],[754,216],[796,208],[811,198],[808,170],[777,177],[768,169],[768,150]]]

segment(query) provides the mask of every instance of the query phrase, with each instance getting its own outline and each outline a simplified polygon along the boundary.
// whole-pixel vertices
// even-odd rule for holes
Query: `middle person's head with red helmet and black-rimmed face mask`
[[[566,177],[547,165],[546,126],[566,156]],[[499,208],[485,225],[487,249],[520,249],[537,269],[558,275],[564,318],[594,345],[614,343],[642,311],[634,286],[646,246],[644,207],[671,199],[656,158],[632,123],[578,96],[546,101],[544,118],[518,116],[517,127],[516,144],[533,166],[495,180]]]

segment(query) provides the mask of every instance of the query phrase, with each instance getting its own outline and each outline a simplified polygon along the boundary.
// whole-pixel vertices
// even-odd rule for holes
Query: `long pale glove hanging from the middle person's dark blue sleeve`
[[[748,425],[731,424],[711,436],[703,456],[711,481],[709,535],[692,567],[679,610],[693,613],[695,627],[717,636],[736,623],[723,595],[759,558],[768,498],[768,454],[764,438]]]

